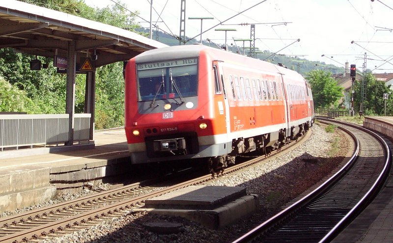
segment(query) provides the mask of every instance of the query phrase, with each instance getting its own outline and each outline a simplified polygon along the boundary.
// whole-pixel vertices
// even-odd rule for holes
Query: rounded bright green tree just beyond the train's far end
[[[338,100],[343,96],[343,87],[337,85],[331,72],[312,70],[306,74],[314,99],[315,108],[329,108],[338,106]]]

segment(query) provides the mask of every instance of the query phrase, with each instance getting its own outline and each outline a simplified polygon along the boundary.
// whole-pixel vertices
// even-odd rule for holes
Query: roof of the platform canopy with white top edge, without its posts
[[[72,40],[76,41],[77,60],[97,55],[95,67],[167,46],[128,30],[52,9],[17,0],[0,1],[0,48],[46,57],[67,56],[67,42]]]

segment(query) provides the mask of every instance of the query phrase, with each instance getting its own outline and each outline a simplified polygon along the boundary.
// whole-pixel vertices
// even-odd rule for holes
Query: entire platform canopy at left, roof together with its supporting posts
[[[0,48],[54,58],[56,67],[67,74],[67,145],[74,142],[75,74],[86,74],[84,113],[91,114],[89,134],[93,139],[95,68],[166,46],[118,27],[17,0],[0,0]]]

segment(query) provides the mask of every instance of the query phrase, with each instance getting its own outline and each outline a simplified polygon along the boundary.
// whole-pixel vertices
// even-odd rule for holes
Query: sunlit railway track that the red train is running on
[[[309,134],[310,133],[306,134],[306,137]],[[302,136],[299,140],[304,137],[305,136]],[[299,143],[289,143],[289,145],[281,149],[281,152],[296,144]],[[253,165],[277,153],[277,151],[273,151],[269,156],[249,158],[246,162],[226,168],[225,171],[220,174],[228,174],[246,166]],[[176,174],[180,177],[182,175],[179,173]],[[98,224],[102,220],[110,217],[120,216],[133,209],[139,208],[146,199],[190,185],[197,185],[209,180],[214,180],[217,176],[207,174],[170,186],[162,186],[163,184],[159,179],[149,180],[109,191],[103,191],[61,204],[28,211],[24,214],[0,218],[0,242],[36,242],[47,237],[57,237],[71,233],[89,227],[91,224]],[[171,180],[172,179],[173,178],[171,178]]]

